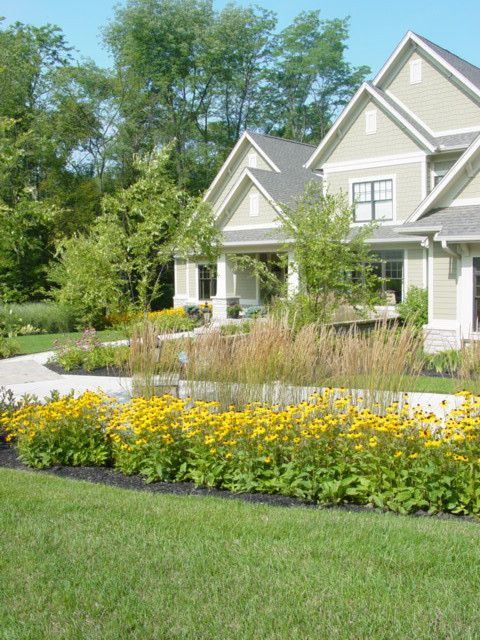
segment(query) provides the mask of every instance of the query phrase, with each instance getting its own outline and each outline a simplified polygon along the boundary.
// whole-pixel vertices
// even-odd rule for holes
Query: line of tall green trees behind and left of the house
[[[78,60],[58,27],[0,28],[0,299],[48,295],[65,242],[98,233],[144,179],[139,158],[168,146],[159,179],[180,213],[245,128],[318,143],[369,73],[345,59],[348,28],[319,11],[279,31],[260,7],[127,0],[103,30],[111,69]]]

